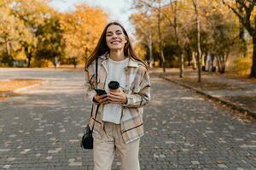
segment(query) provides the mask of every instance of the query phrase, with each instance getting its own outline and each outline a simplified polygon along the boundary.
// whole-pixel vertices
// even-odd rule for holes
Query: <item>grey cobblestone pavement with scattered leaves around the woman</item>
[[[49,82],[0,102],[0,169],[92,169],[91,150],[79,147],[90,114],[83,73],[17,74]],[[171,82],[158,77],[151,82],[142,169],[256,169],[255,123],[240,122],[229,110]],[[117,157],[113,169],[119,169]]]

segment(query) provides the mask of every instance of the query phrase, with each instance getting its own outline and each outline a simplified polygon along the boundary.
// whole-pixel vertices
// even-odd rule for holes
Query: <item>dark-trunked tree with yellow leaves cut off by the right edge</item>
[[[233,1],[228,2],[227,0],[223,0],[222,2],[227,5],[234,12],[234,14],[236,14],[236,16],[239,18],[239,21],[241,22],[241,25],[245,27],[253,39],[253,65],[250,77],[256,77],[256,14],[253,14],[256,1],[236,0],[233,3]]]

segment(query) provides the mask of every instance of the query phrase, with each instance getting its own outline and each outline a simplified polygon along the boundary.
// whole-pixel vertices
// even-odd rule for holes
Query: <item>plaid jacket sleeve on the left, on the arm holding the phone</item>
[[[85,97],[87,99],[90,99],[90,101],[96,103],[94,100],[94,96],[96,95],[96,91],[94,90],[95,88],[94,84],[96,82],[93,82],[93,80],[95,80],[94,78],[95,75],[91,76],[88,68],[85,69],[84,74],[85,74],[85,78],[84,78]]]

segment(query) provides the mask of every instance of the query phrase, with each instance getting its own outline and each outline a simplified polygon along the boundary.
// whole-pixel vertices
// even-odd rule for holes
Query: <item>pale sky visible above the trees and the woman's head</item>
[[[50,5],[61,12],[73,10],[76,3],[87,3],[91,6],[103,8],[108,14],[109,19],[119,21],[125,30],[133,30],[129,16],[131,14],[132,0],[52,0]]]

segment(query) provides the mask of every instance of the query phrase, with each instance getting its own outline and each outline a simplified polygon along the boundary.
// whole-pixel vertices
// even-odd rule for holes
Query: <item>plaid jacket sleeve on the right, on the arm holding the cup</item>
[[[141,73],[137,74],[135,79],[135,89],[132,90],[131,94],[126,94],[127,100],[126,107],[142,107],[147,105],[150,100],[150,80],[148,71],[143,68]],[[138,80],[138,81],[137,81]]]

